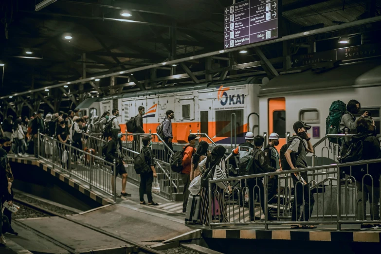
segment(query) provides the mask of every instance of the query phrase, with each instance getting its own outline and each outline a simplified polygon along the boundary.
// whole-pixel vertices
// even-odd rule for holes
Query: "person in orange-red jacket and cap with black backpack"
[[[189,145],[186,145],[182,157],[182,170],[180,172],[182,183],[184,184],[184,190],[182,191],[182,199],[184,200],[182,202],[182,212],[185,213],[186,211],[186,204],[188,203],[188,196],[189,196],[189,184],[190,184],[190,173],[192,168],[192,156],[196,152],[195,146],[197,141],[200,139],[199,136],[196,136],[195,134],[189,134],[188,136],[188,142]]]

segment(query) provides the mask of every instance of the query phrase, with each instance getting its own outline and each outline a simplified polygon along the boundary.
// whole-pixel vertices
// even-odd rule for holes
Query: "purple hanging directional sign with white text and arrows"
[[[224,49],[278,37],[281,0],[246,0],[224,9]]]

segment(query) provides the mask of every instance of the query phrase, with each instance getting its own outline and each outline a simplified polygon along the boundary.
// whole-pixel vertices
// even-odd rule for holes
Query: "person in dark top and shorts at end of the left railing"
[[[123,161],[123,153],[122,153],[122,133],[120,133],[120,129],[112,129],[111,130],[111,140],[107,144],[107,152],[106,152],[106,161],[110,163],[114,163],[115,160],[115,177],[118,174],[122,178],[122,192],[116,194],[118,198],[123,197],[131,197],[131,194],[126,192],[126,183],[127,183],[127,172],[125,168],[125,162]],[[114,178],[111,177],[111,186],[114,189]]]

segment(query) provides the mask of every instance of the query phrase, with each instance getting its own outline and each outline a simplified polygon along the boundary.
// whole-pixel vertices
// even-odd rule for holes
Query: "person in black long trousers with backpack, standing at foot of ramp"
[[[147,173],[140,174],[140,184],[139,184],[139,198],[140,198],[140,204],[145,204],[144,200],[144,194],[147,194],[148,199],[148,205],[159,205],[158,203],[155,203],[152,200],[152,182],[153,178],[157,177],[156,170],[155,170],[155,161],[153,152],[151,149],[152,145],[152,137],[150,136],[144,136],[142,138],[143,148],[140,151],[144,154],[145,162],[151,169],[151,171]]]

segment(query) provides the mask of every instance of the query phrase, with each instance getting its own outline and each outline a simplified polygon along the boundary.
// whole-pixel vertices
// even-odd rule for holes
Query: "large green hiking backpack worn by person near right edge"
[[[334,101],[329,107],[329,114],[326,119],[326,134],[340,134],[340,122],[342,116],[346,112],[345,103],[342,101]],[[329,137],[329,142],[339,143],[340,139]]]

